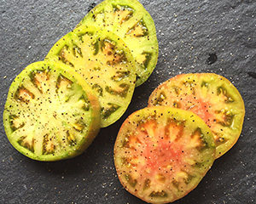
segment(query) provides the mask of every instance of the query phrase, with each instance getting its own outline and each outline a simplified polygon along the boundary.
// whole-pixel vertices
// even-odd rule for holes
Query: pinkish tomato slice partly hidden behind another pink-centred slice
[[[236,144],[245,107],[241,95],[226,78],[213,73],[183,74],[160,84],[148,106],[168,105],[193,111],[207,123],[217,145],[216,157]]]

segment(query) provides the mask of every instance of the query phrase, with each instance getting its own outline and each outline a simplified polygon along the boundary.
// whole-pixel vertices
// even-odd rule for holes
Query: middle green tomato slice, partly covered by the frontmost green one
[[[88,82],[102,106],[102,127],[116,122],[130,104],[136,81],[134,59],[112,32],[80,26],[56,42],[45,60],[69,65]]]

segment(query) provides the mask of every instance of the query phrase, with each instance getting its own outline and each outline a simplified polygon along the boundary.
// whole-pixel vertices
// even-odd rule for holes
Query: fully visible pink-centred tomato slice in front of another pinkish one
[[[167,203],[187,195],[215,158],[212,132],[191,111],[148,107],[129,116],[114,144],[121,184],[150,203]]]

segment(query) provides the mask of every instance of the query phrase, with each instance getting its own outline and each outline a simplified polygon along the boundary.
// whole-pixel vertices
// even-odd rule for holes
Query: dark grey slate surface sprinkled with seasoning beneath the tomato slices
[[[9,144],[2,116],[11,82],[26,65],[43,60],[99,2],[1,0],[0,203],[144,203],[119,184],[114,140],[125,117],[146,106],[160,82],[189,72],[228,78],[240,91],[247,113],[236,145],[214,162],[195,190],[175,203],[256,203],[255,0],[142,0],[154,18],[159,62],[148,82],[136,89],[125,116],[102,129],[90,148],[72,160],[32,161]]]

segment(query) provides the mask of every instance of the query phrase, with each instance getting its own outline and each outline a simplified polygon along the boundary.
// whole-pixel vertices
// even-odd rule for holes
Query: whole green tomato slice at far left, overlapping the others
[[[100,129],[100,105],[86,82],[66,65],[28,65],[9,88],[3,124],[10,143],[34,160],[81,154]]]

